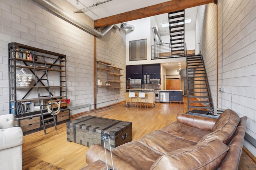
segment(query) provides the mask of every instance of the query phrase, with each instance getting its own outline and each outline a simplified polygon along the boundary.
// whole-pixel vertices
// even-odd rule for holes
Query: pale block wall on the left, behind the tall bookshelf
[[[73,11],[68,10],[70,13]],[[85,18],[81,20],[86,21],[88,25],[93,25],[93,20]],[[33,0],[0,0],[0,115],[9,113],[8,43],[10,42],[65,54],[67,56],[67,96],[71,100],[69,106],[93,104],[94,37],[43,10]],[[100,45],[101,42],[102,45]],[[125,68],[125,33],[123,31],[112,29],[106,37],[97,39],[97,43],[99,55],[106,57],[107,61],[114,63],[115,66]],[[122,86],[125,86],[124,84],[122,83]],[[122,90],[103,92],[98,102],[104,103],[97,107],[124,100],[122,92]],[[18,92],[17,95],[22,96],[23,93]],[[28,97],[35,98],[35,94],[36,90]],[[118,101],[107,102],[114,98],[118,98]],[[71,114],[86,110],[88,108],[74,110]]]

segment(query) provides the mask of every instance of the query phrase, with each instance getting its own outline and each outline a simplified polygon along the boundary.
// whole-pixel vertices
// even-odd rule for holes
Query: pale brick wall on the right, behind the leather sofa
[[[216,87],[211,84],[211,93],[219,93],[218,107],[230,108],[240,117],[248,117],[246,133],[256,139],[256,3],[255,0],[220,0],[218,3],[218,85],[223,85],[224,92],[221,94],[214,91]],[[216,72],[217,69],[216,55],[211,51],[216,51],[216,25],[212,24],[216,22],[215,11],[215,4],[199,7],[196,22],[196,44],[202,39],[207,73]],[[212,26],[212,29],[208,26]],[[198,51],[199,46],[196,46],[196,52]],[[212,75],[214,74],[210,73],[208,78],[211,79]],[[216,99],[214,102],[216,103]],[[244,146],[256,156],[253,145],[245,141]]]

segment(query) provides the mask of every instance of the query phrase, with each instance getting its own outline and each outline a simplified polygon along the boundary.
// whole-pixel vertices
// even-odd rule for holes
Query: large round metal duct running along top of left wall
[[[98,31],[92,27],[90,27],[89,25],[87,25],[86,23],[74,18],[73,16],[71,16],[70,14],[64,12],[64,10],[62,8],[60,8],[59,6],[57,6],[56,4],[50,2],[49,0],[34,0],[35,2],[38,2],[40,5],[44,6],[44,8],[50,10],[51,12],[57,14],[58,16],[64,18],[65,20],[67,20],[68,22],[74,24],[75,26],[79,27],[80,29],[95,35],[97,37],[103,37],[104,35],[106,35],[106,33],[108,33],[108,31],[110,31],[110,29],[112,29],[112,27],[119,29],[121,27],[121,24],[115,24],[115,25],[110,25],[105,27],[102,31]]]

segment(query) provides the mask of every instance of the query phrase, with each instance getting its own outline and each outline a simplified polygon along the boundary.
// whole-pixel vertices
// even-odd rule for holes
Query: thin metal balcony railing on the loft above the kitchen
[[[178,52],[176,52],[178,53]],[[173,55],[170,48],[170,43],[152,45],[151,47],[151,60],[154,59],[168,59],[176,57],[185,57],[184,55]]]

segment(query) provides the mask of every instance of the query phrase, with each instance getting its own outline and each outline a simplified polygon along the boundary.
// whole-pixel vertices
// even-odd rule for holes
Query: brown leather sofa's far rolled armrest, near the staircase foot
[[[177,114],[178,122],[198,129],[204,129],[206,131],[212,131],[212,128],[214,127],[214,124],[216,123],[217,120],[218,119],[211,117],[203,117],[183,113]]]

